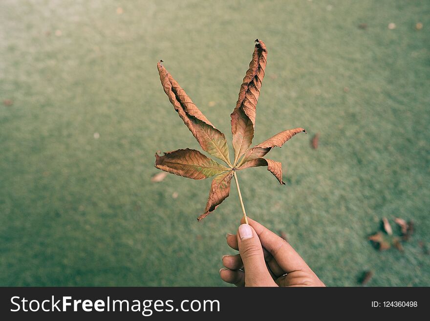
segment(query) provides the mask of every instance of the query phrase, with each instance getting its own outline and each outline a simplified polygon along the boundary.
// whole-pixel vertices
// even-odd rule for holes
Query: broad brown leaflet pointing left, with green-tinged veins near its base
[[[155,154],[155,167],[172,174],[205,179],[229,169],[206,157],[198,150],[173,150],[163,156]]]

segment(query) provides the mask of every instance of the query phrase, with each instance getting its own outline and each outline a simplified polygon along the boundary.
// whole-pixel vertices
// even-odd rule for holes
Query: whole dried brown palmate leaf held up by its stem
[[[205,211],[198,216],[198,220],[212,213],[229,196],[235,171],[267,166],[267,170],[275,175],[280,184],[285,184],[282,181],[281,163],[263,158],[263,156],[272,148],[281,147],[297,133],[306,131],[303,128],[284,130],[253,148],[249,148],[254,137],[256,106],[267,64],[267,49],[262,41],[256,41],[252,61],[245,78],[243,78],[239,98],[231,114],[233,148],[235,150],[233,162],[230,162],[229,159],[229,150],[224,134],[216,129],[194,105],[161,62],[157,64],[160,80],[179,117],[193,133],[203,150],[228,165],[225,167],[198,150],[174,150],[164,153],[164,155],[155,154],[155,167],[160,170],[192,179],[214,177]],[[240,193],[239,198],[241,200]]]

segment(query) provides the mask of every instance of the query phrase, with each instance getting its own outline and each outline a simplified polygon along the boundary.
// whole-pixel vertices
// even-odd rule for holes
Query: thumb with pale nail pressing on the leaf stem
[[[251,225],[239,226],[237,245],[245,268],[245,286],[277,286],[267,270],[260,239]]]

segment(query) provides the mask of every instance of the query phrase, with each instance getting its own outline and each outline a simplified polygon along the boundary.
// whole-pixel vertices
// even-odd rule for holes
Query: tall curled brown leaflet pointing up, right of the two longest
[[[243,78],[242,86],[240,86],[236,107],[230,115],[232,118],[233,148],[235,150],[234,164],[251,146],[254,138],[256,107],[266,64],[266,45],[257,39],[249,69]]]

